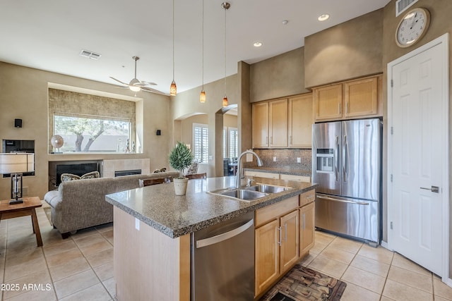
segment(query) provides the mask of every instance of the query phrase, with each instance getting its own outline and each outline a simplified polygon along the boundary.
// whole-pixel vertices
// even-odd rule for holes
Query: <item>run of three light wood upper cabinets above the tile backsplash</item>
[[[253,104],[253,148],[311,147],[312,94]]]

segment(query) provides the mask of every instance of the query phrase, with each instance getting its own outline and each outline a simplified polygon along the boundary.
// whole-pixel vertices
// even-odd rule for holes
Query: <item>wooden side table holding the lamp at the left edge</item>
[[[37,223],[36,208],[42,207],[39,197],[23,197],[21,204],[9,204],[9,199],[0,201],[0,221],[2,219],[13,219],[20,216],[31,215],[33,233],[36,234],[37,246],[42,247],[40,225]]]

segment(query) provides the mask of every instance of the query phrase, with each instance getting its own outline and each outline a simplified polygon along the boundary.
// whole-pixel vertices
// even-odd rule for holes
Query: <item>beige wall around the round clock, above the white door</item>
[[[408,48],[400,48],[397,46],[395,42],[395,32],[400,19],[403,16],[398,16],[396,18],[396,0],[391,0],[391,2],[385,6],[384,8],[384,21],[383,21],[383,82],[387,80],[387,72],[386,66],[389,62],[394,61],[395,59],[408,54],[413,49],[416,49],[428,42],[444,35],[446,32],[449,35],[452,32],[452,22],[451,22],[451,13],[452,13],[452,1],[451,0],[420,0],[416,4],[412,6],[415,7],[423,7],[427,8],[431,15],[430,27],[427,31],[426,35],[422,37],[420,42]],[[450,61],[452,56],[452,43],[451,37],[449,36],[449,97],[452,95],[452,73],[450,68]],[[387,86],[383,85],[383,94],[384,99],[387,99]],[[450,99],[449,99],[450,102]],[[385,112],[387,112],[387,102],[385,102],[384,106]],[[386,113],[385,113],[386,116]],[[452,106],[449,105],[449,118],[452,116]],[[387,124],[387,120],[385,118],[384,124]],[[449,135],[452,135],[452,122],[449,119]],[[449,137],[449,147],[451,147],[451,137]],[[451,148],[452,149],[452,148]],[[387,154],[385,148],[385,156]],[[449,162],[452,164],[452,154],[449,154]],[[449,166],[452,171],[452,165]],[[449,187],[451,187],[452,176],[449,177]],[[452,194],[451,196],[452,197]],[[386,218],[386,210],[384,211],[384,217]],[[386,225],[384,225],[386,226]],[[449,277],[452,277],[452,198],[449,199]]]

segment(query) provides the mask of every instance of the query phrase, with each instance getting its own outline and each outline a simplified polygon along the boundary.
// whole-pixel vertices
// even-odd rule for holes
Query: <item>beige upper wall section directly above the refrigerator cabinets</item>
[[[381,73],[383,9],[304,38],[305,87]]]

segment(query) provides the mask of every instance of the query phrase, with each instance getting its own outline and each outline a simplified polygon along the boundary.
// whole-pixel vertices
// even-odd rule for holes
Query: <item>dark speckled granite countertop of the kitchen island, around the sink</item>
[[[234,176],[229,176],[189,180],[184,196],[174,195],[174,185],[169,183],[113,193],[106,195],[105,200],[170,238],[177,238],[318,186],[298,181],[254,178],[256,182],[253,184],[266,183],[293,189],[252,202],[208,193],[208,191],[234,186],[234,179]]]

